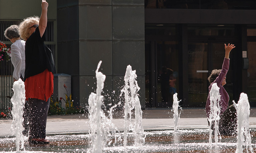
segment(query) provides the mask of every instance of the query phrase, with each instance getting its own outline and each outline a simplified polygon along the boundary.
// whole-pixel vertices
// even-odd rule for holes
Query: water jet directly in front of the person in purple
[[[219,92],[220,88],[218,87],[217,83],[213,83],[212,88],[210,90],[210,101],[211,101],[211,112],[209,114],[209,122],[210,122],[210,126],[209,126],[209,143],[212,144],[212,121],[214,121],[214,127],[215,127],[215,143],[218,143],[218,134],[219,134],[219,124],[218,121],[220,120],[220,105],[219,105],[219,101],[220,101],[220,92]],[[221,136],[220,136],[221,139]]]

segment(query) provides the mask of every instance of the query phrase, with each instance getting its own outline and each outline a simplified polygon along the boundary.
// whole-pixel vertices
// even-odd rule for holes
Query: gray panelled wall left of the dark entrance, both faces
[[[60,26],[69,20],[74,20],[72,25]],[[65,31],[70,35],[71,28],[75,28],[75,37],[64,36]],[[67,50],[67,43],[73,44],[73,49]],[[131,65],[137,71],[140,100],[145,107],[144,43],[144,0],[78,0],[72,4],[58,0],[58,73],[72,76],[72,95],[81,106],[88,103],[91,92],[96,92],[95,70],[101,60],[99,71],[106,75],[105,103],[112,99],[119,102],[125,70]],[[67,64],[66,56],[74,61]]]

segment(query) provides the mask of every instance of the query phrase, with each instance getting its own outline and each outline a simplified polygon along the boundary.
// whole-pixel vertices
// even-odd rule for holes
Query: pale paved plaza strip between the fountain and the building
[[[181,110],[179,110],[180,112]],[[124,129],[124,113],[115,111],[113,123],[122,131]],[[250,109],[250,128],[256,128],[256,107]],[[0,119],[0,136],[11,135],[10,119]],[[145,109],[143,110],[142,125],[144,130],[174,129],[173,112],[171,109]],[[205,108],[183,108],[181,111],[178,129],[208,128]],[[88,114],[54,115],[48,116],[46,135],[87,133]]]

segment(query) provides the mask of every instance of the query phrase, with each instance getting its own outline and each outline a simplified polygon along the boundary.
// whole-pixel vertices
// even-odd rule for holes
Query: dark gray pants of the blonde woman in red
[[[28,98],[29,104],[29,138],[45,139],[46,119],[50,98],[47,101]]]

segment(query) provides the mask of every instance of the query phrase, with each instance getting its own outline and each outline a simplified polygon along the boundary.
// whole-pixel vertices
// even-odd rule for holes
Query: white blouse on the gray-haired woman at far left
[[[20,78],[20,75],[24,78],[25,73],[25,41],[16,40],[11,45],[11,61],[14,67],[13,77],[17,80]]]

